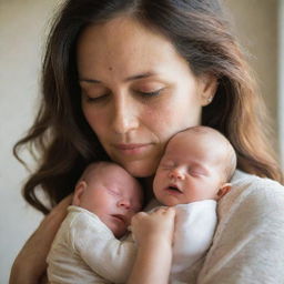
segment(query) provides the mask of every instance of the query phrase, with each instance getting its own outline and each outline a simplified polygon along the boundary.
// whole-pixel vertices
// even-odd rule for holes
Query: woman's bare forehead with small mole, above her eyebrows
[[[123,72],[126,78],[138,72],[149,72],[153,67],[158,70],[173,60],[184,60],[161,33],[133,19],[121,21],[113,19],[83,31],[78,43],[79,71],[101,72],[105,68],[112,73]]]

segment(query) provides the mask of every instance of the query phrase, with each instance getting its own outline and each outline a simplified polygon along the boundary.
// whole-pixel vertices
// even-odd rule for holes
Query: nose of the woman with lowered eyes
[[[112,128],[119,134],[125,134],[139,125],[138,105],[130,94],[120,93],[114,99]]]

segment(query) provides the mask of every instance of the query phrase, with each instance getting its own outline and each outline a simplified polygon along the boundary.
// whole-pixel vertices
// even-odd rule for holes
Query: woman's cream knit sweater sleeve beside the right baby
[[[220,202],[220,223],[196,283],[284,283],[284,187],[239,178]]]

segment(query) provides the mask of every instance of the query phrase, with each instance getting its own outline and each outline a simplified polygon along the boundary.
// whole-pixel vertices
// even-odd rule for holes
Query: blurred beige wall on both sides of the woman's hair
[[[34,115],[42,42],[48,20],[58,2],[0,0],[0,283],[8,282],[12,260],[41,219],[41,214],[20,196],[21,183],[28,173],[12,156],[11,148]],[[250,60],[278,133],[278,1],[225,2],[234,14],[240,39],[251,53]]]

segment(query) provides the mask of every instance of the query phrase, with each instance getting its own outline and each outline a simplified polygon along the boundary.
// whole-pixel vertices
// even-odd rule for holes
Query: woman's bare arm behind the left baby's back
[[[18,254],[10,274],[10,284],[39,284],[43,277],[51,243],[67,215],[72,196],[63,199],[41,222]]]

